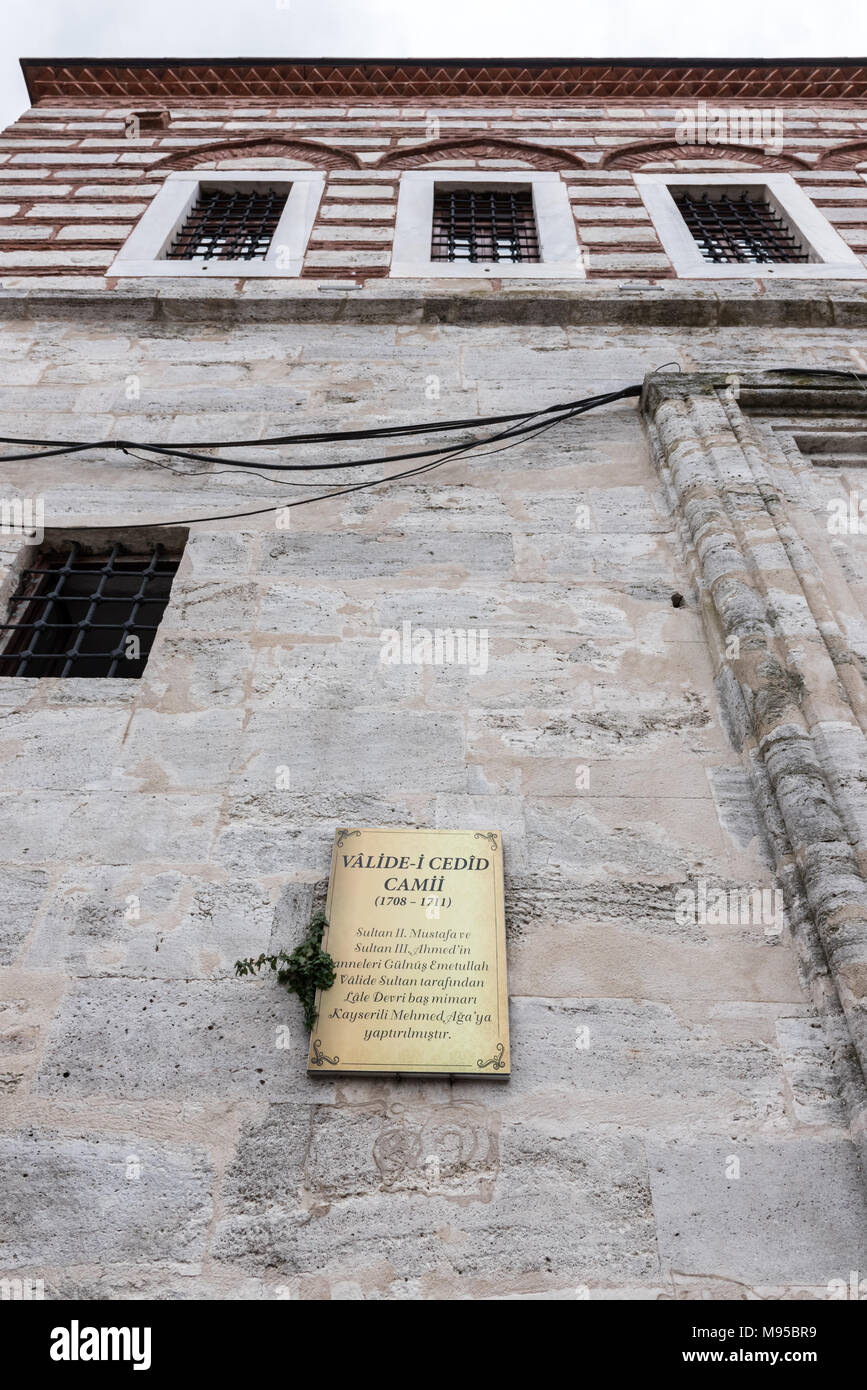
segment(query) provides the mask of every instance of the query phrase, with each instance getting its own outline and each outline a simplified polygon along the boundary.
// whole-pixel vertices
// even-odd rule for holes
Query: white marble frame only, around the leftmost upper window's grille
[[[165,260],[165,249],[182,225],[203,188],[286,188],[288,197],[271,246],[263,260]],[[163,188],[129,234],[107,275],[171,275],[199,279],[270,278],[302,274],[304,253],[325,189],[325,174],[315,170],[192,170],[170,174]]]

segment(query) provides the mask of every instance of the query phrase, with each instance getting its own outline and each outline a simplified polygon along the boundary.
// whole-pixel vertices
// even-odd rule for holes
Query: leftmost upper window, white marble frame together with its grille
[[[300,275],[325,175],[170,174],[108,275]]]

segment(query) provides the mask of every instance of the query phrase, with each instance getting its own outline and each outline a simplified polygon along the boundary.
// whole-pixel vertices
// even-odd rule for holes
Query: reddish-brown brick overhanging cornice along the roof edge
[[[867,58],[22,58],[60,101],[867,101]]]

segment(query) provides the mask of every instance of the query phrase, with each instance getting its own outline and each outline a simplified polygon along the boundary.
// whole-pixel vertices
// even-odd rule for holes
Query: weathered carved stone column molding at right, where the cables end
[[[656,373],[641,399],[678,517],[732,742],[785,894],[799,965],[867,1150],[867,769],[863,667],[799,524],[798,474],[763,416],[864,414],[857,382],[807,374]],[[866,480],[867,481],[867,480]],[[859,833],[860,830],[860,833]]]

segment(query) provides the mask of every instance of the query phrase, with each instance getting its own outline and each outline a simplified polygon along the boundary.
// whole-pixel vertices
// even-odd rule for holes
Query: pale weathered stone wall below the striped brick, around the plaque
[[[850,329],[816,320],[647,304],[582,327],[553,293],[545,321],[449,324],[371,293],[332,324],[293,296],[193,321],[143,293],[13,295],[4,432],[257,438],[529,410],[672,361],[853,364]],[[777,303],[820,314],[806,286]],[[859,1076],[814,916],[791,892],[782,923],[678,910],[702,884],[786,887],[803,844],[732,721],[664,379],[289,530],[182,528],[140,681],[0,680],[0,1272],[94,1298],[736,1298],[867,1268]],[[702,428],[734,448],[714,379]],[[290,492],[176,467],[96,450],[14,485],[69,532]],[[484,627],[488,671],[383,666],[407,620]],[[308,1080],[300,1006],[233,977],[297,940],[346,823],[502,828],[509,1084]]]

